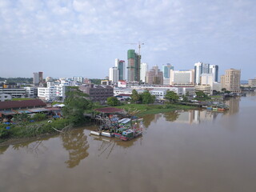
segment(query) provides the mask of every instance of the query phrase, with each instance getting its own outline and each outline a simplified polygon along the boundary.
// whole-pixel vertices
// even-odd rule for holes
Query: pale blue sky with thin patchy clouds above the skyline
[[[0,77],[105,78],[114,59],[256,77],[255,0],[0,0]]]

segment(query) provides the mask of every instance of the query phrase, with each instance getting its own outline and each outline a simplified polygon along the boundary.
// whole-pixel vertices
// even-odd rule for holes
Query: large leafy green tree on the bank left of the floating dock
[[[92,106],[86,97],[88,95],[78,90],[78,87],[69,87],[62,111],[64,117],[69,119],[71,124],[76,125],[85,121],[84,111],[89,110]]]

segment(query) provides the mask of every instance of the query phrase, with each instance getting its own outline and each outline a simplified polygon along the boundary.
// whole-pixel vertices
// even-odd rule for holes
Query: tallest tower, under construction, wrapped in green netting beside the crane
[[[139,82],[140,81],[140,66],[141,55],[135,53],[135,50],[128,50],[127,52],[128,66],[127,66],[127,81]]]

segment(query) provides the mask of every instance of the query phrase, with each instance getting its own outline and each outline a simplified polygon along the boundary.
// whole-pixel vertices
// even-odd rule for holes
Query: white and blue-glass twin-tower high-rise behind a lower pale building
[[[202,74],[213,74],[214,82],[218,82],[218,66],[197,62],[194,64],[194,84],[201,85]]]

